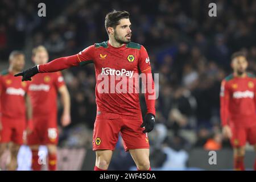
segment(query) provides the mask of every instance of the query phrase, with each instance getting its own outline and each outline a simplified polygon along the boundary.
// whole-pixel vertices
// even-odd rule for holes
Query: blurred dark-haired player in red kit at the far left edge
[[[9,56],[9,69],[0,76],[0,159],[9,145],[11,160],[8,170],[17,168],[19,147],[27,133],[31,133],[32,106],[27,94],[29,82],[14,75],[24,68],[24,54],[13,51]]]

